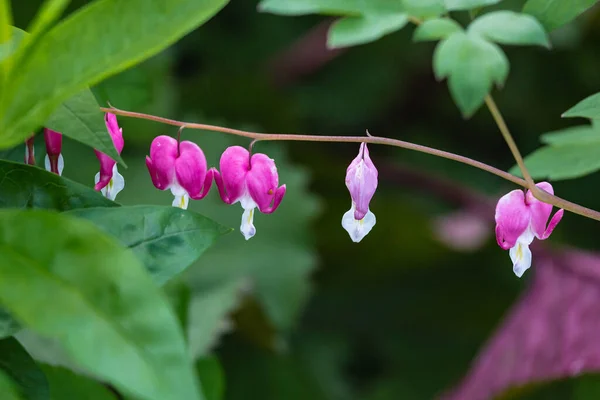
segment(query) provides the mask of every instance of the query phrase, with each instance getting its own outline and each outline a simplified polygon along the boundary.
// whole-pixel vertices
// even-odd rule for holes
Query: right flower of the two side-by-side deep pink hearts
[[[221,199],[227,204],[240,202],[244,213],[240,231],[246,240],[256,234],[254,209],[271,214],[285,195],[285,185],[279,186],[275,161],[265,154],[253,154],[240,146],[227,148],[219,162],[221,172],[214,170],[215,183]]]

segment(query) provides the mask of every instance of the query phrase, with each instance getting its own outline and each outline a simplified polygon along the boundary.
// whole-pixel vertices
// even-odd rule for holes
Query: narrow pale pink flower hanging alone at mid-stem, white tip
[[[360,242],[377,222],[375,214],[369,210],[369,203],[377,189],[377,175],[367,144],[361,143],[358,156],[346,171],[346,187],[350,191],[352,205],[342,217],[342,226],[355,243]]]

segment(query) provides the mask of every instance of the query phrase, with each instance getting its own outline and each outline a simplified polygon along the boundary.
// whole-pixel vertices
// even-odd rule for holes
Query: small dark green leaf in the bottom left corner
[[[46,377],[14,338],[0,340],[0,370],[12,378],[25,400],[50,398]]]

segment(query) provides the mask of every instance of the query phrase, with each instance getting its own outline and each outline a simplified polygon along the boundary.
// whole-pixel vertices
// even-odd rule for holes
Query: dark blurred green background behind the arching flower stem
[[[26,27],[40,3],[13,2],[17,25]],[[71,8],[84,4],[74,1]],[[168,51],[98,85],[96,96],[121,109],[261,132],[364,135],[369,129],[502,169],[513,165],[486,109],[462,119],[445,83],[434,79],[435,45],[412,43],[413,27],[332,52],[325,48],[332,19],[266,15],[256,5],[232,1]],[[596,8],[553,33],[551,51],[506,49],[510,76],[494,96],[523,153],[539,147],[542,133],[585,123],[560,115],[600,91],[599,39]],[[117,201],[170,204],[170,193],[152,186],[144,157],[155,136],[175,135],[176,128],[119,122],[129,168],[121,171],[126,188]],[[204,131],[185,130],[183,138],[198,143],[213,166],[227,146],[248,144]],[[92,150],[65,140],[64,175],[91,186],[98,169]],[[520,296],[530,290],[536,260],[517,279],[493,239],[493,201],[515,189],[511,184],[452,161],[371,146],[380,172],[371,203],[377,225],[354,244],[340,221],[350,207],[344,177],[357,145],[259,143],[255,150],[277,162],[288,186],[282,205],[256,216],[255,238],[246,242],[236,230],[178,282],[191,288],[192,350],[218,356],[226,399],[437,398],[469,374],[515,302],[527,301]],[[554,187],[600,209],[598,174]],[[191,209],[236,229],[242,213],[239,204],[222,204],[214,188]],[[597,232],[597,222],[567,214],[546,248],[597,250]],[[599,326],[596,307],[586,318]],[[193,335],[194,323],[213,324],[213,336]],[[542,354],[561,343],[550,336],[545,346]],[[514,368],[538,356],[525,353]],[[477,379],[486,386],[488,378]],[[503,396],[600,398],[594,376]]]

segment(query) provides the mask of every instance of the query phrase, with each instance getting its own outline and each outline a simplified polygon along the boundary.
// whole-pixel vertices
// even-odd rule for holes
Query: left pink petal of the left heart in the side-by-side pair
[[[166,190],[173,183],[176,159],[177,140],[165,135],[154,138],[150,145],[150,157],[146,158],[146,166],[157,189]]]

